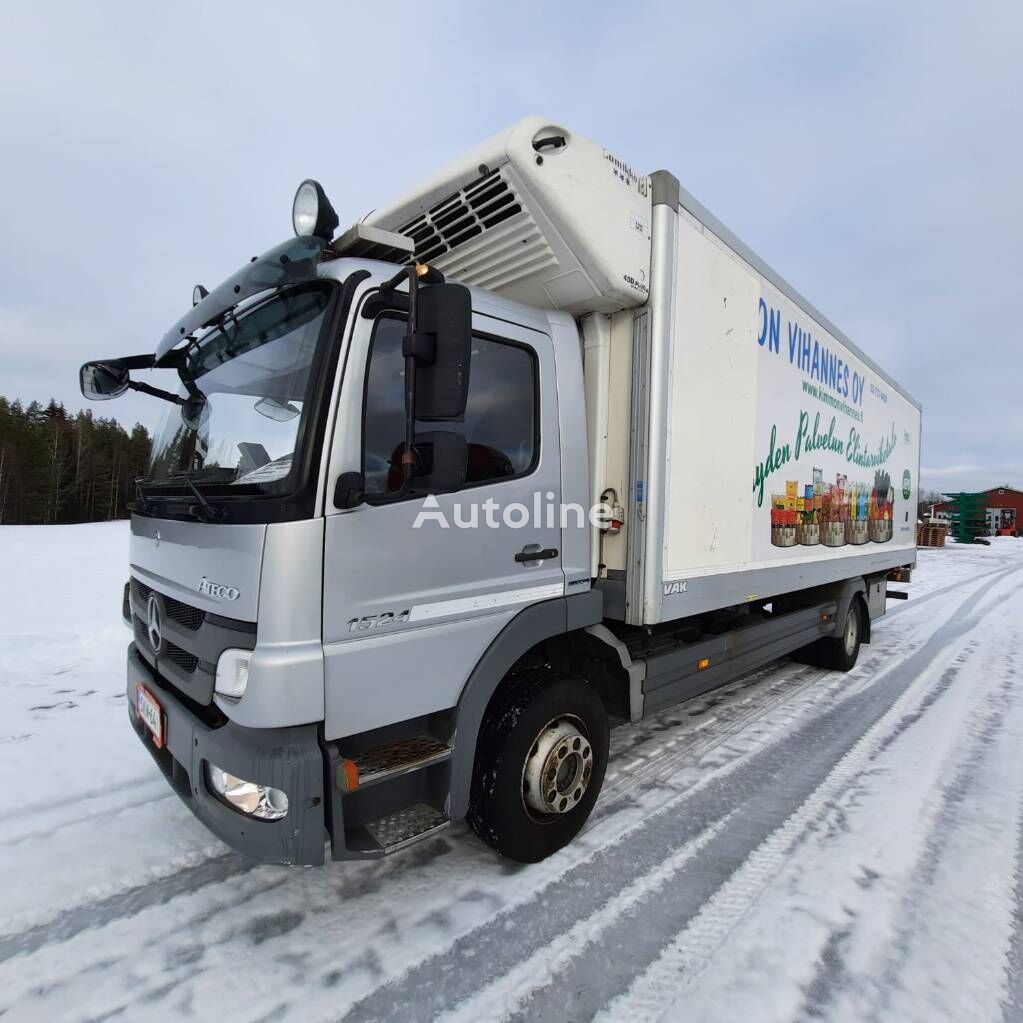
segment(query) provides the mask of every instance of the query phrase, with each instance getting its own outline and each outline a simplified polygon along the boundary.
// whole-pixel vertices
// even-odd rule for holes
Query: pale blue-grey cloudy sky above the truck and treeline
[[[291,234],[527,114],[671,170],[924,406],[925,488],[1023,487],[1023,5],[8,5],[0,394],[83,400]],[[155,426],[132,396],[93,406]]]

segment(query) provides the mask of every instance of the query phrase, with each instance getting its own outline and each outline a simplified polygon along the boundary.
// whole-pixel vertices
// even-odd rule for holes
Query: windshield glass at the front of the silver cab
[[[187,351],[147,482],[188,474],[262,490],[290,476],[328,300],[321,284],[278,294]]]

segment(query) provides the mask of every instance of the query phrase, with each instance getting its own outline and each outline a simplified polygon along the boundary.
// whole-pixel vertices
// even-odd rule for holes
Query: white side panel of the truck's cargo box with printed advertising
[[[913,564],[919,406],[684,207],[676,236],[643,623]]]

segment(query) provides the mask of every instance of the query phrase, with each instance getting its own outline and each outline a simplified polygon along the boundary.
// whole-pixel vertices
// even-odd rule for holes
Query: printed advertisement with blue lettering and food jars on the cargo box
[[[769,285],[756,345],[755,559],[915,542],[918,410]]]

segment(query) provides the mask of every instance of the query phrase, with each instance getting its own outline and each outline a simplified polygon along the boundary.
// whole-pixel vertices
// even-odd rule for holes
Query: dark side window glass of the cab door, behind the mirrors
[[[363,470],[366,490],[386,493],[401,484],[405,439],[405,322],[390,316],[373,327],[366,372]],[[466,484],[523,476],[537,452],[539,400],[535,356],[509,342],[474,335],[469,403],[463,422],[421,422],[420,431],[451,430],[469,447]]]

